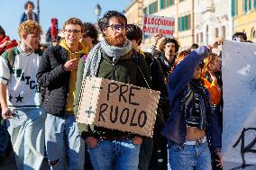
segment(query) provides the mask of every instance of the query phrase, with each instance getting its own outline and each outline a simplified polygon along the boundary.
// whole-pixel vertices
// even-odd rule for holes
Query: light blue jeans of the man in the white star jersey
[[[19,170],[39,170],[44,157],[45,113],[41,108],[11,109],[7,127]]]

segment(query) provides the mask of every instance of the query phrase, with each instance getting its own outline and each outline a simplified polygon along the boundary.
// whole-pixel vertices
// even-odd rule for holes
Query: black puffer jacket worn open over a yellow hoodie
[[[68,51],[60,46],[50,47],[43,53],[37,73],[38,84],[47,87],[45,111],[61,116],[65,112],[69,93],[69,72],[63,65],[68,61]]]

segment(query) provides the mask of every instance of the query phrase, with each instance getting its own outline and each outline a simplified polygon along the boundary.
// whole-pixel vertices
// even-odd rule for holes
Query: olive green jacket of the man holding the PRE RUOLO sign
[[[139,67],[142,72],[140,71]],[[73,104],[74,113],[78,115],[78,106],[80,99],[80,91],[83,82],[83,73],[85,67],[85,59],[80,58],[78,62],[78,73],[77,73],[77,83],[76,83],[76,94]],[[142,76],[143,74],[143,76]],[[125,84],[137,85],[146,88],[151,88],[151,75],[146,65],[146,61],[142,56],[138,56],[133,49],[126,55],[118,58],[115,63],[112,58],[108,57],[102,50],[102,58],[96,73],[97,77],[104,77],[109,80],[115,80],[123,82]],[[145,78],[144,78],[145,77]],[[146,79],[146,81],[145,81]],[[148,85],[147,85],[148,84]],[[127,134],[120,130],[108,130],[101,127],[96,127],[94,125],[87,126],[86,124],[79,123],[79,130],[82,133],[82,138],[87,138],[88,136],[116,136]]]

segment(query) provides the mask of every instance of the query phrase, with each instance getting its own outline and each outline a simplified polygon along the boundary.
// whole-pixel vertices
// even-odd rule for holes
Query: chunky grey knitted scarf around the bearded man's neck
[[[130,40],[126,40],[123,47],[115,47],[109,45],[105,40],[97,43],[96,46],[90,50],[87,62],[84,67],[83,80],[86,76],[96,76],[97,69],[102,58],[102,50],[105,51],[106,55],[110,58],[120,58],[127,54],[132,49],[132,43]]]

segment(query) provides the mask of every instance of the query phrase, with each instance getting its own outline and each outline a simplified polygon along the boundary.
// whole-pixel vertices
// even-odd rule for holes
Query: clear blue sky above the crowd
[[[37,13],[37,0],[31,1],[35,4],[33,11]],[[27,0],[1,0],[0,25],[12,40],[20,40],[17,30],[26,2]],[[100,15],[102,17],[109,10],[123,12],[131,0],[40,0],[42,31],[48,30],[50,19],[53,17],[58,19],[59,29],[71,17],[78,17],[83,22],[96,22],[95,6],[97,2],[102,8]]]

